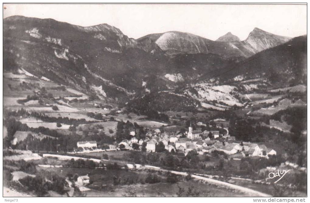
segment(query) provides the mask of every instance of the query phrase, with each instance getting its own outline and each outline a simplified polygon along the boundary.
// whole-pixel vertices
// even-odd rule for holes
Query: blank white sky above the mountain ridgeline
[[[246,39],[255,27],[288,37],[307,34],[306,5],[5,4],[3,18],[52,18],[74,25],[107,23],[131,38],[171,30],[216,40],[227,32]]]

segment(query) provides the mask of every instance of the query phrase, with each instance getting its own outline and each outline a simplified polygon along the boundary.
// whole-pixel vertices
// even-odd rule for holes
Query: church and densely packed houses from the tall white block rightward
[[[269,155],[277,154],[275,150],[267,148],[265,145],[236,141],[235,137],[220,134],[218,130],[202,132],[201,129],[193,130],[190,125],[186,133],[186,138],[181,138],[182,133],[176,133],[169,138],[152,139],[147,142],[147,152],[155,152],[156,145],[162,142],[169,152],[181,152],[185,155],[192,150],[196,150],[200,155],[212,151],[223,151],[227,155],[234,155],[233,157],[260,156],[268,158]]]

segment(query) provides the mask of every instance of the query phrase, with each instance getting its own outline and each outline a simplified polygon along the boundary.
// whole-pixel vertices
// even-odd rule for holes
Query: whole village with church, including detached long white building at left
[[[201,124],[201,123],[197,123]],[[223,126],[222,126],[223,127]],[[189,151],[195,150],[198,155],[212,153],[213,151],[222,151],[229,158],[241,160],[242,157],[254,156],[265,157],[277,155],[277,152],[271,148],[267,148],[263,144],[252,142],[243,142],[236,140],[234,136],[220,133],[219,130],[204,130],[196,128],[193,130],[192,123],[188,127],[188,131],[182,133],[162,132],[160,129],[154,129],[146,134],[146,138],[138,139],[135,136],[135,131],[131,131],[131,139],[124,139],[121,142],[108,145],[107,151],[118,150],[141,150],[148,153],[169,151],[170,153],[184,153],[186,156]],[[84,151],[100,151],[96,150],[97,143],[95,141],[82,141],[77,143],[77,147]],[[105,151],[105,150],[101,150]]]

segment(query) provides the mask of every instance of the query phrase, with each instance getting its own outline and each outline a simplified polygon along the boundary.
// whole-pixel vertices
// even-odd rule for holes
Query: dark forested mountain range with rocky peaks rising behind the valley
[[[230,32],[213,41],[178,31],[133,39],[108,24],[24,16],[5,18],[3,35],[3,71],[22,68],[105,101],[186,94],[198,83],[307,83],[306,35],[292,39],[255,28],[243,41]]]

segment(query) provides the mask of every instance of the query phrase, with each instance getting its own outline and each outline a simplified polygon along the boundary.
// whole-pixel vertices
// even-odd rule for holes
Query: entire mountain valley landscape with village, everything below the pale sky
[[[255,196],[218,180],[307,195],[307,35],[255,28],[243,41],[177,31],[133,39],[108,24],[3,21],[8,191]],[[280,184],[268,178],[276,169],[290,169]]]

